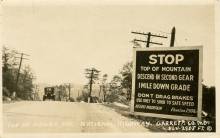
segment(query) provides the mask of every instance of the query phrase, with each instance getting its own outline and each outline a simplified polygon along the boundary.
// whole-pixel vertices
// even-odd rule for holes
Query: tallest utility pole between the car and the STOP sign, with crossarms
[[[98,71],[97,69],[95,68],[92,68],[92,69],[86,69],[86,74],[88,76],[86,76],[88,79],[89,79],[89,96],[88,96],[88,103],[90,103],[90,100],[91,100],[91,94],[92,94],[92,84],[95,80],[98,79],[98,73],[100,71]]]

